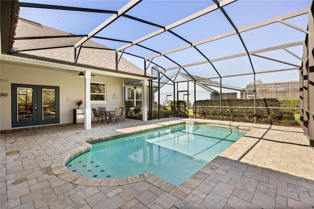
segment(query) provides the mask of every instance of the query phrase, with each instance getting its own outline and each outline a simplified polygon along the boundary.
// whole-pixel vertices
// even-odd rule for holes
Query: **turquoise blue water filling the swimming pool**
[[[245,133],[227,126],[177,125],[95,143],[66,167],[91,178],[151,173],[180,185]]]

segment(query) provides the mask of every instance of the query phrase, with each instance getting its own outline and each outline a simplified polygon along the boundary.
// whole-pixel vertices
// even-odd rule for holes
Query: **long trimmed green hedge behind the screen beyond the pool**
[[[196,117],[207,119],[220,119],[220,100],[199,100],[196,104]],[[297,107],[298,99],[266,98],[256,100],[257,123],[285,124],[298,126],[295,120],[296,110],[269,109],[267,107]],[[214,106],[214,107],[207,107]],[[254,120],[254,99],[223,99],[222,117],[227,120],[252,122]],[[233,106],[233,108],[231,108]],[[237,106],[247,108],[236,108]],[[259,108],[266,107],[266,108]]]

